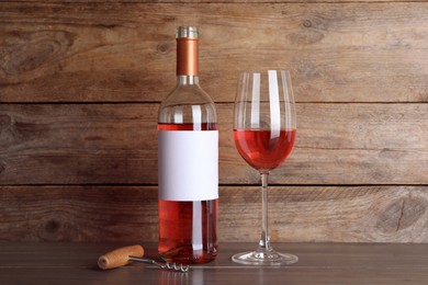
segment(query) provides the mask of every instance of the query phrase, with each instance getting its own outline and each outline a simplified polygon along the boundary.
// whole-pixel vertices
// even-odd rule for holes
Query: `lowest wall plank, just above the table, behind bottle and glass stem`
[[[219,241],[258,242],[260,190],[222,186]],[[1,241],[157,241],[156,186],[1,186]],[[427,186],[272,186],[272,242],[428,242]]]

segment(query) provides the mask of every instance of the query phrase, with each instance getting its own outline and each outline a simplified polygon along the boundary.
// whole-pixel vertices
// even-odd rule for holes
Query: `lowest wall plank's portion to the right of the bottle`
[[[426,186],[273,186],[270,236],[291,242],[427,242]],[[260,238],[260,190],[222,192],[221,237]]]

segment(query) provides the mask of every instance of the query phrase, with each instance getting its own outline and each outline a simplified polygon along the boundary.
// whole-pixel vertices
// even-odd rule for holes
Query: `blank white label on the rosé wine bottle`
[[[159,198],[218,198],[218,130],[158,132]]]

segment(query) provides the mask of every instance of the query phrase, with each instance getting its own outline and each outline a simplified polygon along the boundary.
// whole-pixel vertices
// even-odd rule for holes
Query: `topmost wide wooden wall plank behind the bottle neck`
[[[291,69],[299,102],[428,102],[426,2],[0,5],[0,102],[158,102],[174,29],[201,27],[201,78],[232,102],[239,70]]]

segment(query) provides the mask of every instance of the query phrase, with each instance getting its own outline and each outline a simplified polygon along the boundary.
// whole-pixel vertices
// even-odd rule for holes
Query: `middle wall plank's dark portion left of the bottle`
[[[155,105],[0,105],[0,110],[3,184],[155,182]]]

